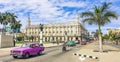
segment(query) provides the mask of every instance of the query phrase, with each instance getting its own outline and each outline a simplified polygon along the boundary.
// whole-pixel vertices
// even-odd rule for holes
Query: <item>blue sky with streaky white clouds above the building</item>
[[[104,2],[111,2],[110,10],[115,11],[118,19],[111,19],[111,23],[102,26],[105,34],[108,28],[120,28],[120,0],[0,0],[0,12],[12,12],[21,20],[22,29],[25,28],[30,15],[32,24],[63,23],[75,20],[76,11],[92,11],[93,7],[101,6]],[[82,18],[79,20],[82,21]],[[0,25],[1,26],[1,25]],[[85,23],[89,32],[98,29],[97,25]]]

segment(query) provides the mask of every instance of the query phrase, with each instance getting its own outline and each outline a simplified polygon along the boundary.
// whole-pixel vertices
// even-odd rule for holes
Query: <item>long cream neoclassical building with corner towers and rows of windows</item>
[[[44,24],[43,27],[43,41],[50,41],[51,39],[53,41],[81,40],[81,38],[85,39],[88,35],[87,29],[79,22],[78,16],[76,16],[76,20],[74,21]],[[29,17],[23,33],[25,33],[27,37],[33,36],[36,41],[39,41],[40,26],[39,24],[31,25]]]

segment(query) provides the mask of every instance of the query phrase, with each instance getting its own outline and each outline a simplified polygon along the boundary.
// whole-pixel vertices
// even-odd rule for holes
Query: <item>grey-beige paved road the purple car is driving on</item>
[[[62,46],[46,48],[41,56],[32,56],[29,59],[14,59],[12,56],[0,57],[0,62],[80,62],[73,55],[81,48],[80,45],[67,48],[67,52],[62,52]]]

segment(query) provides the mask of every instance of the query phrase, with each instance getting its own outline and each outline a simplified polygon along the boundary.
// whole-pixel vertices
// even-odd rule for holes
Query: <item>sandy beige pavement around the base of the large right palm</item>
[[[86,60],[84,60],[83,62],[120,62],[119,48],[110,45],[103,45],[103,50],[107,52],[93,52],[94,50],[98,49],[98,42],[94,42],[82,47],[79,51],[76,52],[76,54],[98,57],[98,59],[85,58]],[[80,56],[78,58],[80,58]]]

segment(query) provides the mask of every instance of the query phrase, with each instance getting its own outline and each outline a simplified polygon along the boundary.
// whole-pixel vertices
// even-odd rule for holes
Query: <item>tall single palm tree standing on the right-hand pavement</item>
[[[101,26],[111,22],[111,18],[118,18],[115,12],[109,10],[110,4],[111,3],[104,3],[101,7],[95,6],[93,12],[86,11],[81,13],[81,17],[84,18],[83,22],[88,22],[89,24],[95,24],[98,26],[100,52],[103,52]]]

